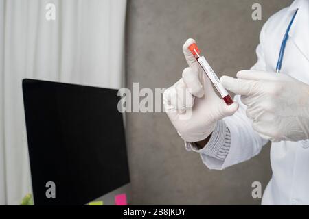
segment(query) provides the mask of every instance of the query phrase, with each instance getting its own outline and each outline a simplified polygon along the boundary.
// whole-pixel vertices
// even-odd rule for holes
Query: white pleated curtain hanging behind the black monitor
[[[0,0],[0,205],[31,192],[21,80],[120,88],[125,17],[126,0]]]

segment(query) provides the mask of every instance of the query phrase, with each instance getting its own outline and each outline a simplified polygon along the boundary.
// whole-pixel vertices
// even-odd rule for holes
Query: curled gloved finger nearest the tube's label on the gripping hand
[[[183,70],[183,81],[193,96],[201,98],[204,96],[205,92],[198,71],[199,70],[196,71],[192,68],[185,68]]]

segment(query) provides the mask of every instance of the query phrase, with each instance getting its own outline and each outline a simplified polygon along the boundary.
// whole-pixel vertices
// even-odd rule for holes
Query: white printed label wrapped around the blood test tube
[[[214,84],[215,88],[218,90],[220,95],[223,97],[229,95],[227,90],[222,86],[220,79],[218,79],[216,73],[214,73],[214,70],[209,66],[208,62],[206,61],[205,57],[202,56],[198,59],[198,62],[201,64],[203,70],[211,80],[211,82]]]

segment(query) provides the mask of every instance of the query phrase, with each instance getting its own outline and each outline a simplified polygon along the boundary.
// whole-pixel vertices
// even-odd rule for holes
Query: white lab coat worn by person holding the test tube
[[[309,84],[309,0],[297,0],[289,8],[271,16],[260,34],[255,70],[275,72],[279,49],[286,28],[299,8],[286,44],[282,73]],[[308,96],[309,98],[309,96]],[[231,131],[231,147],[224,162],[203,159],[209,168],[222,169],[244,162],[260,153],[267,140],[261,138],[246,116],[246,106],[236,96],[240,109],[225,118]],[[202,156],[203,157],[203,156]],[[309,141],[271,144],[273,176],[262,198],[262,205],[309,205]]]

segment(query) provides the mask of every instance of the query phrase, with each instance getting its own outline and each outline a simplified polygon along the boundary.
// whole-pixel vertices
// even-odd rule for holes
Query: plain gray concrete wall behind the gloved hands
[[[251,5],[262,5],[262,21]],[[126,86],[167,88],[181,77],[182,44],[195,38],[218,75],[235,76],[256,61],[262,25],[289,0],[131,0],[126,26]],[[282,36],[278,36],[281,39]],[[185,151],[168,117],[127,114],[133,204],[260,204],[251,183],[271,177],[269,144],[249,162],[208,170],[196,153]]]

